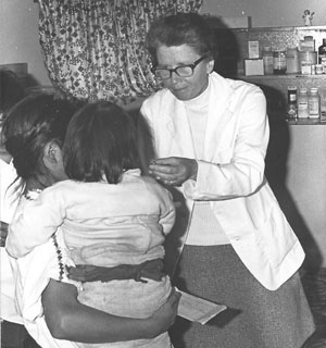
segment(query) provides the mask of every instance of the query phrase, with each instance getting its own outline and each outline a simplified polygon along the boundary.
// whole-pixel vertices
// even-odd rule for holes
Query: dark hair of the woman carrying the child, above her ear
[[[11,109],[3,124],[4,145],[23,181],[47,174],[45,146],[52,140],[63,145],[67,124],[76,111],[74,103],[48,94],[25,97]]]

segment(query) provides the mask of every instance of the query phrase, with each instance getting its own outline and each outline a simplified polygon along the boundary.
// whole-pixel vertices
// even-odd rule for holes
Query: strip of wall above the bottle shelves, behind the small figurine
[[[203,0],[201,13],[251,16],[252,26],[301,26],[304,10],[315,12],[313,25],[326,24],[326,1],[321,0]]]

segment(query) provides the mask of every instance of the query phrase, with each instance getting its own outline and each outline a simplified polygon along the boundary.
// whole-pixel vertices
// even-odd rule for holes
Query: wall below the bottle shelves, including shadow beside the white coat
[[[268,182],[303,246],[305,266],[325,268],[326,124],[293,124],[274,117],[269,115]]]

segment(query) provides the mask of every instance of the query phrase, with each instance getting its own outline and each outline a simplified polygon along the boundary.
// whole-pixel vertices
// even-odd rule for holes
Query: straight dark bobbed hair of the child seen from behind
[[[109,101],[85,105],[72,119],[64,142],[67,176],[80,182],[117,184],[122,173],[140,165],[130,115]]]

